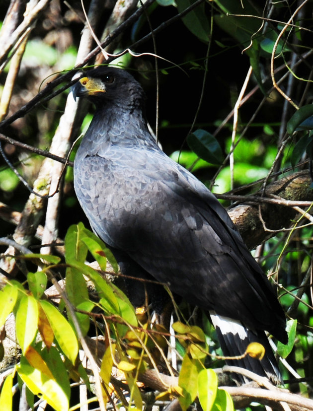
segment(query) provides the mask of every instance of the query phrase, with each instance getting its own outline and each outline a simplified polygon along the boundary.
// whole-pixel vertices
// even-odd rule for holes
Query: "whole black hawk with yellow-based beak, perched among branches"
[[[265,335],[287,342],[277,296],[224,207],[158,147],[147,127],[141,85],[122,69],[98,67],[83,74],[73,93],[96,108],[76,154],[75,191],[122,273],[165,283],[203,309],[226,356],[260,342],[262,360],[246,356],[232,364],[278,382]],[[128,281],[127,288],[132,303],[142,305],[143,282]],[[161,310],[163,287],[147,282],[146,292]]]

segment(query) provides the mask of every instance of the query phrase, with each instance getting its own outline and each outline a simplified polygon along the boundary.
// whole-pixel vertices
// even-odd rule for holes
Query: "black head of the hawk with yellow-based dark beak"
[[[73,86],[73,96],[86,97],[97,107],[106,102],[124,108],[142,107],[144,91],[127,71],[114,67],[98,67],[83,73]]]

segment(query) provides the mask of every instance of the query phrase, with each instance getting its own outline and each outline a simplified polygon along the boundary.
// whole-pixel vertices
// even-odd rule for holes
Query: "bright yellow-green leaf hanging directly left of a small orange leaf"
[[[32,295],[25,295],[18,306],[15,318],[16,338],[25,354],[38,330],[38,303]]]

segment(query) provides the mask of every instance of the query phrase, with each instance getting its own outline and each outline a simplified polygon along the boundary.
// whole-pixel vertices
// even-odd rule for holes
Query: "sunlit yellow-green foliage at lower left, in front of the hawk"
[[[15,374],[33,396],[45,400],[56,411],[68,410],[71,381],[86,383],[85,369],[78,355],[78,341],[87,335],[92,319],[94,321],[96,318],[102,318],[105,324],[104,329],[98,329],[98,333],[104,336],[104,354],[99,375],[105,402],[109,401],[109,393],[114,387],[114,382],[111,383],[114,367],[123,373],[123,378],[129,385],[130,405],[133,400],[137,409],[142,408],[143,401],[137,386],[138,373],[157,366],[160,355],[164,355],[162,350],[166,346],[167,332],[161,326],[152,324],[148,316],[136,316],[134,307],[123,291],[97,270],[82,263],[89,251],[98,256],[102,270],[106,268],[107,258],[113,266],[116,265],[109,250],[99,243],[100,240],[81,223],[69,228],[65,250],[66,294],[54,279],[54,272],[64,265],[56,262],[59,260],[56,256],[49,256],[51,261],[54,260],[53,263],[45,262],[42,271],[28,275],[23,285],[7,281],[0,291],[0,305],[5,307],[1,313],[0,326],[4,325],[7,315],[13,313],[16,337],[21,347],[19,363],[6,377],[2,387],[2,410],[11,409],[12,378]],[[45,258],[40,254],[26,257],[29,260]],[[45,277],[61,293],[59,309],[47,301],[44,294],[38,293],[37,286],[34,286],[34,280],[37,279],[40,285],[46,283],[45,280],[42,281]],[[91,281],[97,291],[98,301],[90,299],[87,281]],[[65,307],[67,316],[62,313],[62,307]],[[233,410],[232,401],[227,394],[224,394],[227,400],[224,397],[220,400],[218,397],[216,374],[213,370],[206,369],[201,362],[208,349],[203,331],[199,327],[189,327],[182,323],[176,323],[173,328],[184,336],[182,343],[187,349],[178,386],[170,387],[171,397],[179,398],[183,410],[187,410],[197,396],[200,403],[205,405],[205,410],[216,407],[225,411]],[[179,335],[177,338],[179,339]],[[89,387],[89,383],[87,385]],[[118,391],[116,395],[118,397]]]

